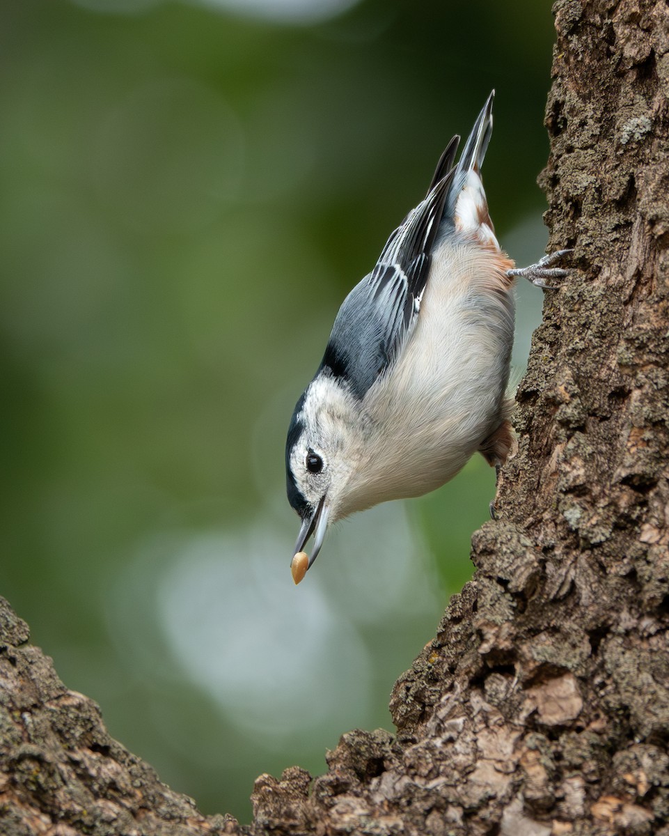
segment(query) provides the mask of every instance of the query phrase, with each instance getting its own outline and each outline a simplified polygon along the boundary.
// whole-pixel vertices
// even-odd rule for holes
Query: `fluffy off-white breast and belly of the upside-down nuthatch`
[[[352,506],[433,490],[499,426],[513,344],[512,266],[492,243],[459,232],[434,252],[415,328],[362,404],[366,461]]]

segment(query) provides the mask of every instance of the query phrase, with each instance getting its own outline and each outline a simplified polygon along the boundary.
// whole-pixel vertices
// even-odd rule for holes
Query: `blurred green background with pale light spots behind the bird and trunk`
[[[313,772],[469,578],[494,474],[342,523],[291,583],[283,446],[338,304],[492,87],[542,254],[550,4],[2,0],[0,593],[205,812]],[[522,368],[541,294],[519,288]]]

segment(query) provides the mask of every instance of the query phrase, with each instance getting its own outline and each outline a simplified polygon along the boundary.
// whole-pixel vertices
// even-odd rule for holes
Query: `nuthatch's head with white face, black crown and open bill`
[[[298,402],[286,443],[288,499],[302,517],[296,552],[314,535],[316,559],[328,523],[348,512],[347,488],[355,473],[360,434],[355,400],[332,378],[312,381]]]

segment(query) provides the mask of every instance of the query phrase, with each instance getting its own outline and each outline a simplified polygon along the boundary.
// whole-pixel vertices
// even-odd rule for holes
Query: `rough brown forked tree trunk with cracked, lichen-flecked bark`
[[[25,625],[0,627],[2,833],[669,834],[669,8],[559,0],[541,176],[551,246],[518,450],[474,580],[311,782],[205,818],[109,738]]]

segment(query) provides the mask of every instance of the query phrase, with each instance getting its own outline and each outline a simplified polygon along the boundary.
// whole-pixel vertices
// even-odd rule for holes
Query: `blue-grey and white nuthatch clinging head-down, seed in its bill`
[[[570,251],[514,270],[499,247],[480,175],[493,97],[457,166],[454,136],[425,199],[344,300],[297,401],[286,441],[288,499],[302,517],[296,583],[330,523],[432,491],[477,450],[491,465],[506,460],[514,277],[546,288],[545,278],[566,274],[551,263]]]

